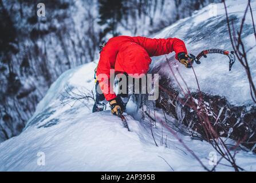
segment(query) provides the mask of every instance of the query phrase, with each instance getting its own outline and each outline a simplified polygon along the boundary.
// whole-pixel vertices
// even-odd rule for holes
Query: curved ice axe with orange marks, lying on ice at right
[[[199,53],[196,57],[195,55],[192,55],[192,54],[188,54],[188,56],[194,59],[196,64],[200,64],[201,63],[199,61],[200,58],[202,57],[207,58],[207,54],[210,54],[210,53],[219,53],[219,54],[227,55],[227,57],[229,57],[229,71],[232,69],[232,66],[235,63],[234,51],[227,51],[222,49],[208,49],[208,50],[201,51],[201,53]]]

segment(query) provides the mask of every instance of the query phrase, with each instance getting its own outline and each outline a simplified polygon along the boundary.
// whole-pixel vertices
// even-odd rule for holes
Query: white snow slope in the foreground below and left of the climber
[[[1,171],[204,170],[166,128],[163,128],[164,145],[160,145],[162,126],[158,122],[157,128],[152,130],[159,147],[153,141],[147,121],[139,122],[125,114],[132,131],[128,132],[109,109],[92,114],[92,101],[62,105],[67,85],[72,86],[68,88],[72,88],[73,93],[81,89],[87,89],[89,93],[94,85],[94,66],[96,64],[92,62],[66,71],[53,83],[26,129],[19,136],[0,144]],[[128,108],[132,110],[132,102]],[[160,112],[157,115],[161,117]],[[210,144],[191,140],[180,133],[177,135],[208,168],[213,167],[207,160],[209,153],[214,152]],[[37,163],[42,153],[45,165],[39,166]],[[254,154],[241,151],[236,158],[239,166],[256,171]],[[220,165],[217,170],[233,169]]]

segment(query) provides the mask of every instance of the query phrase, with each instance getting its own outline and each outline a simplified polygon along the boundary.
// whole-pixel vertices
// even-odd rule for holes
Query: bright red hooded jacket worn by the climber
[[[116,97],[110,85],[111,69],[115,73],[146,74],[153,56],[175,51],[187,53],[184,42],[178,38],[151,39],[145,37],[118,36],[109,39],[100,53],[97,78],[107,101]],[[107,78],[99,77],[107,75]]]

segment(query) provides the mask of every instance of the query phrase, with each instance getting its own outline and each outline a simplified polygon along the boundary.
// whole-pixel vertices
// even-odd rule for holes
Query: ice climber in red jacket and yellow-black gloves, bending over
[[[175,58],[186,67],[191,67],[192,59],[188,56],[184,42],[178,38],[152,39],[146,37],[118,36],[109,39],[100,52],[100,60],[96,69],[96,102],[93,112],[104,110],[109,102],[112,114],[123,113],[129,100],[128,93],[115,94],[111,92],[111,69],[114,74],[147,74],[151,58],[175,51]],[[107,78],[99,77],[104,74]],[[97,92],[97,87],[100,87]]]

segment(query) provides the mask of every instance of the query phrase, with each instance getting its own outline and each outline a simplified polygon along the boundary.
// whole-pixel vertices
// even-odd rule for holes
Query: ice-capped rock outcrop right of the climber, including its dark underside
[[[236,32],[241,27],[246,3],[242,0],[226,2],[229,20]],[[256,2],[251,5],[256,7]],[[195,55],[211,48],[232,51],[225,7],[223,3],[216,6],[216,17],[209,16],[210,6],[206,7],[167,27],[155,38],[180,38],[188,52]],[[249,16],[246,18],[241,39],[246,49],[254,49],[247,52],[247,60],[252,78],[256,78],[254,26]],[[154,58],[151,70],[161,75],[159,84],[162,86],[156,106],[176,118],[176,125],[192,137],[210,141],[213,138],[207,134],[208,127],[211,128],[208,132],[214,132],[215,137],[229,137],[238,142],[239,148],[255,152],[256,105],[251,100],[248,78],[238,59],[231,71],[226,59],[223,55],[212,54],[202,58],[200,65],[194,64],[194,69],[187,69],[176,61],[174,54]],[[191,91],[190,95],[186,94],[186,89]],[[182,128],[182,124],[187,128]]]

